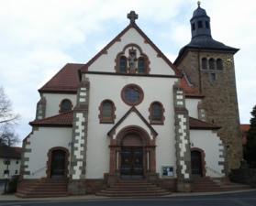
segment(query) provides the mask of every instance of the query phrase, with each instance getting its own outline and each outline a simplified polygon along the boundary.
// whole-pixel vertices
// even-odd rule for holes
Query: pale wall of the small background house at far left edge
[[[7,157],[0,157],[0,179],[5,178],[4,172],[6,170],[6,165],[4,164],[4,159],[7,160]],[[9,177],[11,177],[12,175],[15,175],[16,170],[17,170],[17,174],[19,174],[20,158],[10,158],[10,162],[11,163],[8,166]]]

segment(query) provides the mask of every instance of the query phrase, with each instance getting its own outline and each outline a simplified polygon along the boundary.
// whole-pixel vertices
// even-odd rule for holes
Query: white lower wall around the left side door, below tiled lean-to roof
[[[34,131],[28,137],[30,145],[26,148],[31,148],[32,150],[25,154],[25,157],[29,157],[29,161],[25,161],[25,165],[28,165],[25,171],[30,171],[31,174],[45,167],[48,161],[47,153],[54,146],[65,147],[71,152],[71,146],[68,146],[70,141],[72,141],[72,128],[39,127],[39,131]],[[40,178],[46,178],[46,168],[40,169],[34,175],[29,175],[28,177],[25,175],[25,179]]]

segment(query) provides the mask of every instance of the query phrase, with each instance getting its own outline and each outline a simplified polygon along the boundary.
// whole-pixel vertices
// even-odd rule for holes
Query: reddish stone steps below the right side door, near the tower
[[[228,186],[220,186],[213,179],[206,178],[193,178],[194,192],[211,192],[211,191],[231,191],[231,190],[250,190],[250,185],[242,185],[231,183]]]

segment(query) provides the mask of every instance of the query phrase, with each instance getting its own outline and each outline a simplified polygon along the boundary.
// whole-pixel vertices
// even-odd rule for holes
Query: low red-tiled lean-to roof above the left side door
[[[38,126],[71,126],[72,127],[72,112],[67,112],[63,114],[57,114],[54,116],[47,117],[45,119],[36,120],[29,122],[29,125]]]

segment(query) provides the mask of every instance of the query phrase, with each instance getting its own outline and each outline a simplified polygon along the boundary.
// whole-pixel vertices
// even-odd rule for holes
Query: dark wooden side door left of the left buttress
[[[51,155],[51,179],[63,179],[65,172],[65,151],[54,150]]]

